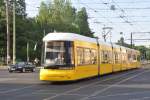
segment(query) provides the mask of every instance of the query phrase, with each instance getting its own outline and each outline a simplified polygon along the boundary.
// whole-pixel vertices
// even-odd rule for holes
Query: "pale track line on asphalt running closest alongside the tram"
[[[136,71],[137,71],[137,70],[136,70]],[[134,72],[136,72],[136,71],[134,71]],[[139,70],[138,70],[138,71],[139,71]],[[101,81],[98,81],[98,82],[94,82],[94,83],[91,83],[91,84],[87,84],[87,85],[84,85],[84,86],[80,86],[80,87],[78,87],[78,88],[75,88],[75,89],[66,91],[66,92],[64,92],[64,93],[59,93],[59,94],[56,94],[56,95],[54,95],[54,96],[44,98],[43,100],[51,100],[51,99],[56,98],[56,97],[58,97],[58,96],[66,95],[66,94],[68,94],[68,93],[70,93],[70,92],[74,92],[74,91],[77,91],[77,90],[80,90],[80,89],[83,89],[83,88],[86,88],[86,87],[95,85],[95,84],[97,84],[97,83],[102,83],[102,82],[105,82],[105,81],[109,81],[109,80],[112,80],[112,79],[116,79],[116,78],[118,78],[118,77],[122,77],[122,76],[125,76],[125,75],[128,75],[128,74],[134,73],[134,72],[128,72],[128,73],[121,74],[121,75],[116,76],[116,77],[113,77],[113,78],[107,78],[107,79],[104,79],[104,80],[101,80]]]

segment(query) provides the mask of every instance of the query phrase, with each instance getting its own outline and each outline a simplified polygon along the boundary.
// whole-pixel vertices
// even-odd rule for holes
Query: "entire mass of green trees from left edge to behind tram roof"
[[[10,53],[12,59],[13,38],[13,1],[9,0],[10,21]],[[41,2],[39,14],[35,18],[28,18],[25,0],[16,1],[16,58],[26,60],[26,46],[29,43],[30,61],[41,58],[42,38],[49,32],[74,32],[92,37],[86,9],[77,11],[70,0],[53,0],[49,4]],[[34,51],[34,46],[37,49]],[[5,2],[0,0],[0,62],[6,58],[6,15]]]

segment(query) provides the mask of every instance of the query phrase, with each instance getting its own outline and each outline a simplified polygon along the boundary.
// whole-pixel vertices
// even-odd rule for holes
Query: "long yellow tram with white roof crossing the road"
[[[44,66],[40,80],[72,81],[140,66],[140,52],[74,33],[43,38]]]

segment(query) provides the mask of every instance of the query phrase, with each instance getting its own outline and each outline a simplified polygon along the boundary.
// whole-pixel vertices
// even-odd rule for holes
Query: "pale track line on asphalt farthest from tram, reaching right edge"
[[[142,74],[144,74],[144,73],[146,73],[146,72],[149,72],[149,71],[150,71],[150,70],[146,70],[146,71],[144,71],[144,72],[142,72],[142,73],[138,73],[138,74],[133,75],[133,76],[131,76],[131,77],[128,77],[128,78],[126,78],[126,79],[124,79],[124,80],[121,80],[121,81],[119,81],[119,82],[117,82],[117,83],[115,83],[115,84],[113,84],[113,85],[118,85],[118,84],[124,83],[124,82],[126,82],[126,81],[128,81],[128,80],[130,80],[130,79],[133,79],[133,78],[135,78],[135,77],[137,77],[137,76],[139,76],[139,75],[142,75]],[[108,89],[112,88],[113,85],[110,85],[110,86],[108,86],[108,87],[106,87],[106,88],[104,88],[104,89],[102,89],[102,90],[100,90],[100,91],[96,91],[96,92],[94,92],[93,94],[91,94],[91,95],[89,95],[89,96],[87,96],[87,97],[84,97],[84,98],[82,98],[82,99],[79,99],[79,100],[87,100],[87,99],[89,99],[90,97],[94,97],[94,96],[96,96],[96,95],[98,95],[98,94],[100,94],[100,93],[102,93],[102,92],[105,92],[105,91],[107,91]]]

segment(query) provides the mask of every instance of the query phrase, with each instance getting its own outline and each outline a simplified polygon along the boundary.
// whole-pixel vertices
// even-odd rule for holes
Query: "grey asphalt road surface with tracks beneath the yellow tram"
[[[41,82],[38,75],[0,70],[0,100],[150,100],[150,65],[77,82]]]

